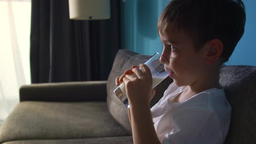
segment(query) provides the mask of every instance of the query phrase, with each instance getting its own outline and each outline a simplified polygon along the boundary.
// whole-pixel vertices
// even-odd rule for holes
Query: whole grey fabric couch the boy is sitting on
[[[115,96],[115,78],[150,56],[120,49],[108,81],[23,85],[20,103],[0,126],[2,144],[132,144],[126,106]],[[172,82],[155,89],[151,107]],[[225,144],[256,144],[256,66],[223,65],[220,84],[232,107]]]

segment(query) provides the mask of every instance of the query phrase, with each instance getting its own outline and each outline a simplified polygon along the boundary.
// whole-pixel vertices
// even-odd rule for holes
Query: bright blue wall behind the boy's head
[[[157,33],[157,21],[170,0],[122,0],[121,46],[134,52],[153,55],[162,52]],[[226,65],[256,66],[256,0],[243,0],[246,7],[246,26],[243,37],[237,44]]]

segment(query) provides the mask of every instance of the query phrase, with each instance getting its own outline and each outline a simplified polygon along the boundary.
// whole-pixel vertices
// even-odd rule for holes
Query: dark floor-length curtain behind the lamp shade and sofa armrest
[[[31,83],[107,80],[120,49],[120,4],[111,19],[69,20],[68,0],[32,0]]]

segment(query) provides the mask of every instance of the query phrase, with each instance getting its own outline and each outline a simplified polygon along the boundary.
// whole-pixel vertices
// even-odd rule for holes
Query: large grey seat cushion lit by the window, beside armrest
[[[20,102],[0,128],[0,143],[128,136],[106,102]]]

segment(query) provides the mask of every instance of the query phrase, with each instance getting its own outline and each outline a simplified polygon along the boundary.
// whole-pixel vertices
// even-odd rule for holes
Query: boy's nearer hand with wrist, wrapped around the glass
[[[129,105],[149,105],[155,94],[155,90],[152,89],[153,80],[150,69],[145,64],[140,66],[143,71],[134,65],[132,70],[126,70],[125,74],[119,78],[123,78],[125,82]]]

